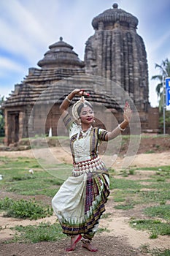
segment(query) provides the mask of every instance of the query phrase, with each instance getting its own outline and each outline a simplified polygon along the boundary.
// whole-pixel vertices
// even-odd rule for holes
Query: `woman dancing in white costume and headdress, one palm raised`
[[[67,109],[75,95],[81,98],[72,107],[72,118]],[[82,247],[90,252],[98,250],[91,241],[109,196],[109,173],[98,157],[98,146],[101,141],[112,140],[120,135],[131,119],[131,109],[126,103],[124,120],[112,132],[93,127],[93,107],[84,96],[88,97],[89,94],[85,90],[75,89],[60,106],[63,123],[69,130],[73,170],[72,176],[67,178],[53,197],[52,206],[63,233],[71,237],[67,252],[73,251],[80,240]]]

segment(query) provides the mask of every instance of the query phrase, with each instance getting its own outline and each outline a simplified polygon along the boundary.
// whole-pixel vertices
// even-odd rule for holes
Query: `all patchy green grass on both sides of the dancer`
[[[12,192],[12,195],[24,195],[32,197],[31,200],[12,200],[4,198],[0,200],[0,210],[7,214],[14,214],[12,217],[39,219],[51,214],[50,202],[52,197],[58,191],[63,180],[52,176],[43,170],[36,159],[27,157],[18,157],[10,159],[0,157],[0,173],[3,179],[0,181],[0,189],[4,192]],[[51,166],[55,173],[62,173],[69,165]],[[34,174],[29,170],[34,170]],[[135,178],[138,172],[143,172],[147,178]],[[52,173],[53,173],[52,171]],[[148,174],[148,172],[150,174]],[[110,200],[114,200],[115,210],[131,211],[138,205],[142,206],[144,219],[134,219],[132,216],[131,227],[147,230],[150,238],[158,236],[170,236],[170,166],[150,167],[150,168],[131,168],[116,173],[115,170],[109,170],[110,173]],[[142,176],[143,177],[143,176]],[[49,198],[49,205],[45,202],[36,202],[36,195],[45,195]],[[150,203],[152,206],[150,207]],[[16,212],[18,214],[16,214]],[[104,214],[108,218],[110,214]],[[36,226],[17,226],[14,227],[15,237],[12,241],[23,241],[36,243],[38,241],[55,241],[63,238],[61,227],[58,223],[41,223]],[[98,232],[108,231],[100,229]],[[108,231],[109,232],[109,231]],[[164,252],[153,252],[157,255],[168,255],[169,249]],[[160,253],[160,254],[158,254]],[[161,254],[162,253],[162,254]],[[153,254],[154,255],[154,254]]]

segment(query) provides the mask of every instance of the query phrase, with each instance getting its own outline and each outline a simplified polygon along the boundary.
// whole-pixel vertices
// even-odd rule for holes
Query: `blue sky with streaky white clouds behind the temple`
[[[118,7],[139,20],[137,34],[144,40],[149,70],[149,101],[158,106],[155,64],[170,60],[169,0],[0,0],[0,97],[8,97],[38,67],[49,45],[63,41],[83,61],[85,42],[94,34],[94,17]]]

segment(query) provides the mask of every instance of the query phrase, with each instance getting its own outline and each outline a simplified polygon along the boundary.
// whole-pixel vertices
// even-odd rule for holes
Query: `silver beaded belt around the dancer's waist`
[[[84,162],[73,163],[73,176],[80,176],[85,173],[92,173],[96,170],[102,170],[105,168],[104,162],[100,159],[100,157],[96,157]]]

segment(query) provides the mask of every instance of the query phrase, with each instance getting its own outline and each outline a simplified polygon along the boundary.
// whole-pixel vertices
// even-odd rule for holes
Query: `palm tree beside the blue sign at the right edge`
[[[159,69],[159,75],[153,75],[151,79],[159,80],[160,83],[156,86],[156,92],[159,99],[159,109],[162,112],[163,110],[163,82],[165,78],[170,77],[170,61],[165,59],[162,61],[161,65],[155,64],[155,69]]]

